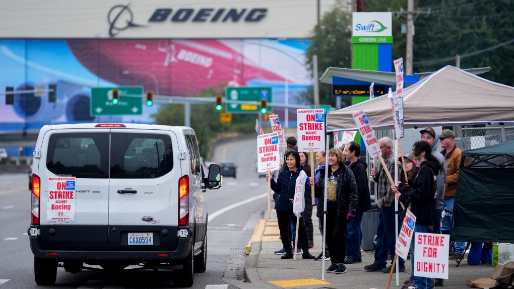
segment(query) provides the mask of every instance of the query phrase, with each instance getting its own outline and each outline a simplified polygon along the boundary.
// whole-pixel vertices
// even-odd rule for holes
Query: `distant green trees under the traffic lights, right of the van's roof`
[[[222,90],[222,85],[217,89],[209,87],[202,90],[197,96],[213,97],[215,94],[225,94]],[[207,157],[211,143],[220,133],[227,131],[251,133],[255,131],[256,113],[232,114],[231,124],[221,123],[219,121],[220,113],[214,109],[214,103],[191,105],[191,127],[196,132],[196,139],[201,141],[200,155],[204,158]],[[161,105],[157,112],[152,114],[152,117],[155,119],[155,124],[182,126],[184,125],[184,105]]]

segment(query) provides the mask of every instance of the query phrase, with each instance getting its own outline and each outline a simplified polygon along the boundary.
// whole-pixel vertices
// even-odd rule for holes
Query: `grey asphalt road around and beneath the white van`
[[[195,274],[193,288],[234,288],[224,280],[242,279],[245,248],[255,225],[263,218],[267,199],[265,179],[256,174],[256,141],[216,147],[213,159],[233,161],[237,179],[224,178],[222,188],[207,190],[209,214],[207,271]],[[0,175],[0,289],[40,288],[33,277],[33,255],[28,243],[30,191],[27,174]],[[57,282],[48,288],[163,288],[171,287],[171,271],[126,271],[113,275],[83,270],[78,274],[58,268]]]

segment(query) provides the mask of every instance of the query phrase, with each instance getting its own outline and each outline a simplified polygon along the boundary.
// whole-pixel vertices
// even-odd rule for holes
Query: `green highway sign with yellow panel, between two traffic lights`
[[[260,113],[261,99],[267,99],[268,103],[272,102],[271,87],[227,87],[225,90],[225,98],[237,101],[255,101],[255,104],[231,104],[225,105],[225,111],[231,113]],[[268,107],[268,111],[273,111],[272,107]]]

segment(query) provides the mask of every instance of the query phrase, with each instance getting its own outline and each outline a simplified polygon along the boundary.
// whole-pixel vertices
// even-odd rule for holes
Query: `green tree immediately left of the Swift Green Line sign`
[[[328,67],[351,68],[352,14],[347,4],[337,1],[334,8],[325,13],[314,27],[312,44],[305,51],[306,66],[314,78],[313,55],[318,55],[318,75]],[[332,86],[320,84],[320,104],[336,105],[332,97]],[[314,89],[301,93],[300,101],[314,103]],[[349,104],[349,103],[348,103]]]

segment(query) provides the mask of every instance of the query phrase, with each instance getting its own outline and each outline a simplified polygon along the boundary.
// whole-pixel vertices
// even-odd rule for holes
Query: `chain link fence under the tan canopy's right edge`
[[[508,127],[462,127],[462,150],[481,148],[514,140],[514,126]]]

